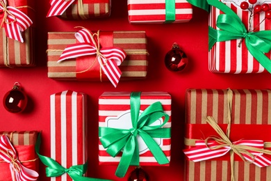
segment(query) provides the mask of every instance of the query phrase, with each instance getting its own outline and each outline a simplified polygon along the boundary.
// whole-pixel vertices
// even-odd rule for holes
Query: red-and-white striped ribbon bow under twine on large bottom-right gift
[[[206,142],[204,140],[199,140],[195,142],[195,147],[190,149],[183,150],[184,154],[193,162],[201,162],[207,159],[213,159],[216,157],[222,157],[223,155],[226,155],[229,150],[231,150],[231,146],[225,145],[220,148],[217,146],[220,146],[222,143],[217,143],[217,141],[208,140],[208,143],[206,146]],[[233,145],[245,145],[253,148],[263,149],[264,143],[261,140],[240,140],[233,142]],[[217,148],[215,148],[217,147]],[[215,149],[211,149],[215,148]],[[247,150],[247,152],[254,155],[254,157],[251,157],[247,154],[243,154],[240,152],[241,155],[247,160],[248,162],[251,162],[255,164],[258,167],[263,166],[270,166],[271,165],[271,158],[265,156],[262,152]]]

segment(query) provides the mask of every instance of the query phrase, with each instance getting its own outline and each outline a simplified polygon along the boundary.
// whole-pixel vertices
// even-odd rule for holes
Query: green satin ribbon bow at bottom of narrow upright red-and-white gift
[[[39,134],[37,143],[35,144],[35,152],[37,152],[37,155],[40,158],[40,161],[44,165],[48,166],[46,168],[47,177],[58,177],[58,176],[63,175],[64,173],[67,173],[74,181],[103,181],[104,180],[104,179],[99,179],[99,178],[86,178],[82,176],[87,171],[88,162],[85,162],[85,164],[83,165],[75,165],[69,168],[64,168],[63,166],[58,164],[58,162],[56,162],[54,159],[40,155],[40,144],[41,144],[41,141],[40,141],[40,134]],[[104,180],[104,181],[110,181],[110,180]]]

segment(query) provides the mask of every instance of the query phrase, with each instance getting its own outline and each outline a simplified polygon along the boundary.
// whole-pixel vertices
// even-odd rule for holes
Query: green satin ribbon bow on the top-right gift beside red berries
[[[218,0],[207,0],[207,2],[225,13],[217,17],[216,25],[220,30],[209,26],[209,50],[215,42],[243,38],[250,54],[271,73],[271,61],[264,54],[271,50],[271,31],[247,32],[243,22],[231,8]]]

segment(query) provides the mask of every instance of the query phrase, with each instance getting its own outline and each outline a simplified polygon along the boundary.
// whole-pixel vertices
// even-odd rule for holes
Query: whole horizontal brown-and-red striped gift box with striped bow
[[[79,35],[78,33],[81,33],[81,31],[85,32],[88,30],[81,29],[76,35]],[[146,77],[148,52],[145,31],[88,32],[90,33],[88,39],[92,39],[92,36],[95,36],[92,39],[95,45],[93,45],[92,40],[81,41],[79,36],[74,38],[75,33],[72,32],[48,33],[48,77],[79,81],[110,80],[114,86],[117,85],[118,79],[140,79]],[[63,52],[67,47],[73,46],[76,48],[76,46],[80,45],[86,47],[84,49],[85,52],[82,54],[81,52],[76,52],[75,54]],[[67,48],[66,50],[68,51],[69,49]],[[116,56],[108,56],[108,51],[113,52]],[[63,61],[63,56],[65,55],[71,56]],[[120,56],[121,60],[118,59]],[[125,56],[126,58],[124,59]],[[112,66],[115,68],[112,68]],[[108,70],[105,73],[106,67],[112,69],[112,71]]]

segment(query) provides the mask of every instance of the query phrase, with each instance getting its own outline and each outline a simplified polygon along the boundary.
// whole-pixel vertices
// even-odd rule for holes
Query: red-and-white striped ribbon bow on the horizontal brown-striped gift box
[[[97,36],[97,38],[95,38],[94,35]],[[101,69],[104,71],[113,86],[116,87],[122,74],[118,65],[120,65],[126,57],[124,50],[118,47],[100,48],[99,35],[93,34],[91,31],[84,28],[75,33],[75,38],[79,43],[67,45],[58,62],[69,58],[96,54],[97,61],[99,62]]]

